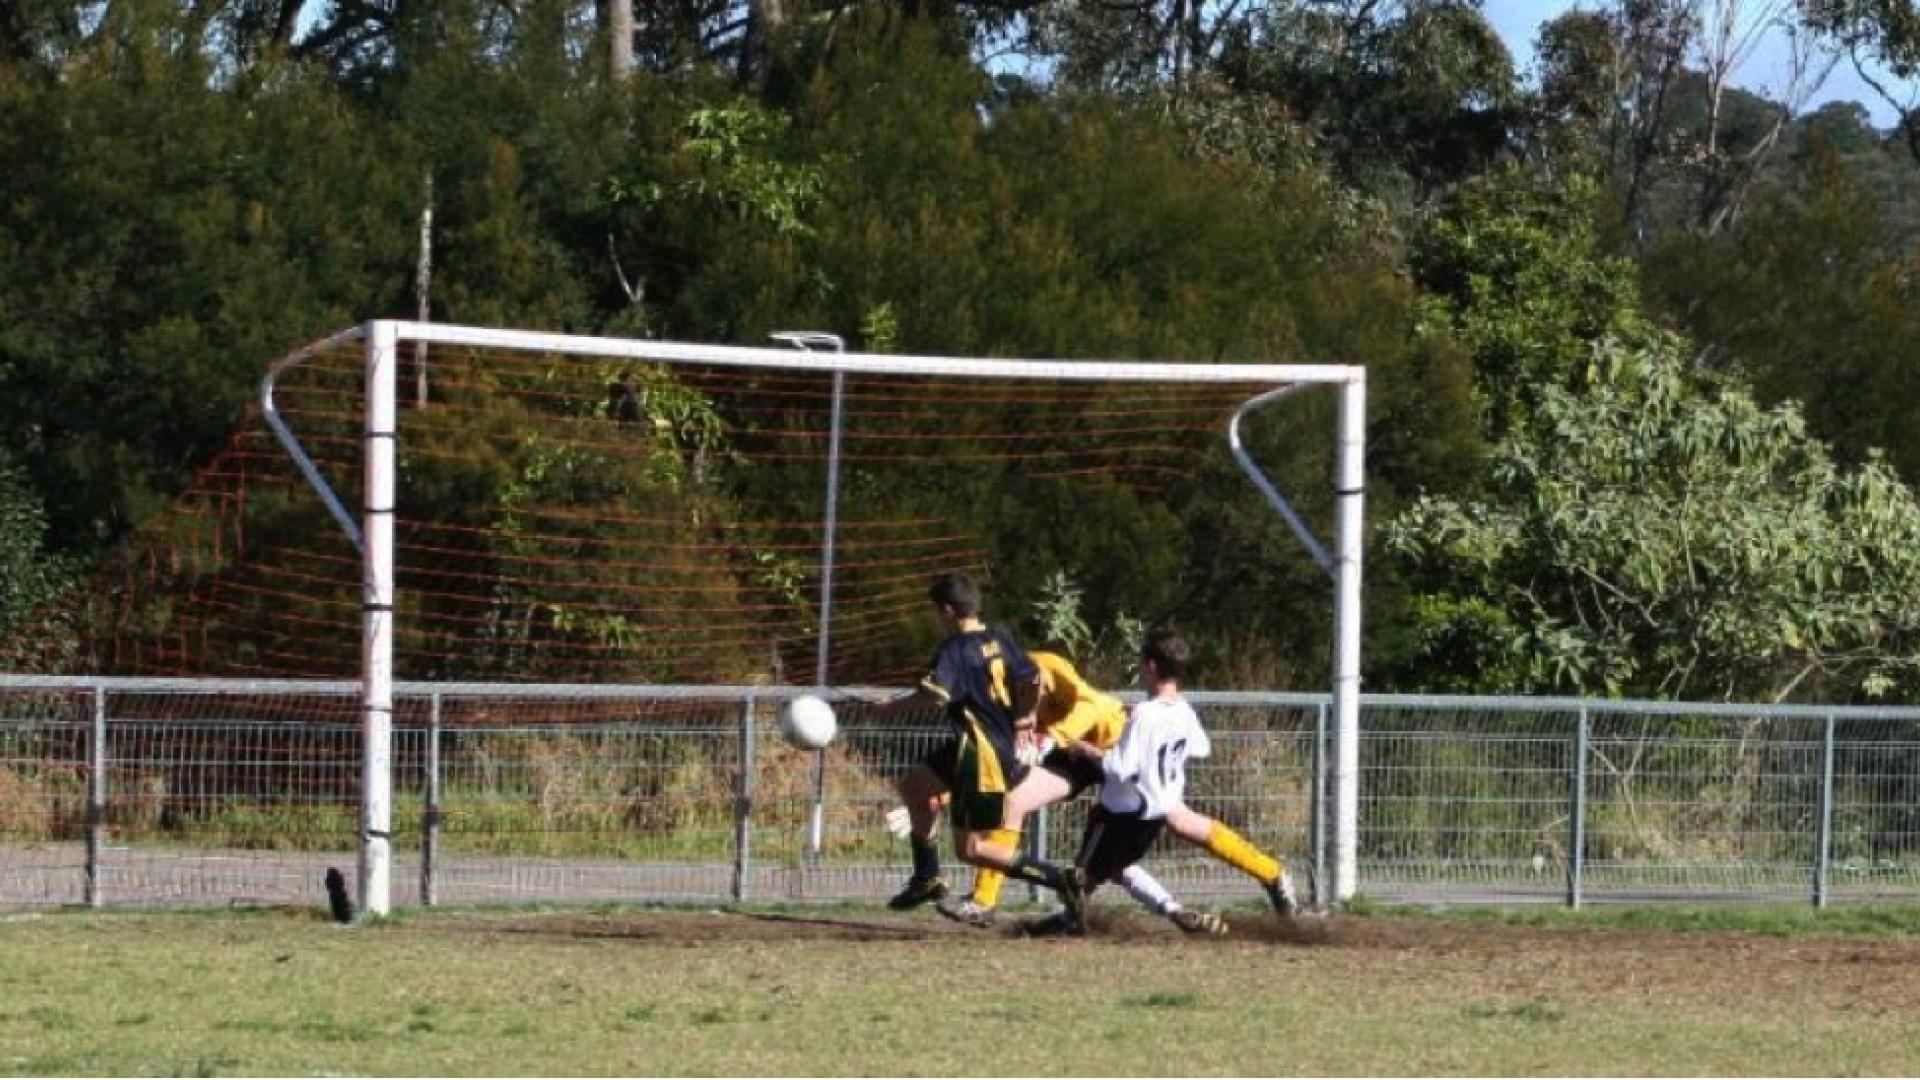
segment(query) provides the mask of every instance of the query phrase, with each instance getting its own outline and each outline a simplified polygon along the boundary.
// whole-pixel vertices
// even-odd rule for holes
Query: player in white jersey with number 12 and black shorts
[[[1087,744],[1073,744],[1073,753],[1098,755],[1104,773],[1100,805],[1089,815],[1075,872],[1081,874],[1081,897],[1100,884],[1119,878],[1146,855],[1160,832],[1173,824],[1175,836],[1206,847],[1223,861],[1240,867],[1267,892],[1283,917],[1292,917],[1296,903],[1286,867],[1246,842],[1225,824],[1187,809],[1187,759],[1208,757],[1213,751],[1206,728],[1192,705],[1181,698],[1181,678],[1187,675],[1190,651],[1171,630],[1156,630],[1140,651],[1140,676],[1148,698],[1133,707],[1127,730],[1106,753]],[[1129,892],[1139,890],[1129,886]],[[1140,897],[1148,903],[1148,897]],[[1171,897],[1169,897],[1171,899]],[[1029,932],[1085,932],[1079,905],[1043,919]]]

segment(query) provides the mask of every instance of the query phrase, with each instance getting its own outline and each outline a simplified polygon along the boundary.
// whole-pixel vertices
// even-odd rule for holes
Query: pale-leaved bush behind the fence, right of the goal
[[[1452,686],[1668,698],[1910,694],[1920,507],[1836,467],[1797,409],[1603,342],[1498,446],[1498,496],[1423,500],[1388,546],[1434,577]]]

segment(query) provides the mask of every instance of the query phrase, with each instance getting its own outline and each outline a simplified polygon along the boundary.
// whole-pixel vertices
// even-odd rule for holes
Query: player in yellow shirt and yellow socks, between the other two
[[[1039,726],[1039,769],[1027,776],[1006,798],[1006,819],[1000,826],[998,842],[1016,846],[1027,815],[1043,805],[1079,796],[1085,790],[1098,790],[1104,782],[1098,755],[1069,753],[1075,744],[1106,751],[1112,749],[1127,728],[1127,707],[1108,694],[1094,690],[1079,671],[1058,653],[1029,651],[1035,667],[1041,669],[1041,700],[1035,709]],[[1227,828],[1219,821],[1175,807],[1167,813],[1167,828],[1181,840],[1206,847],[1208,853],[1227,865],[1246,872],[1261,884],[1267,899],[1283,917],[1296,911],[1292,882],[1286,867],[1254,847],[1244,836]],[[981,869],[973,878],[973,896],[958,901],[943,901],[941,915],[973,926],[989,926],[1000,901],[1000,886],[1006,874]],[[1190,934],[1223,934],[1225,924],[1217,915],[1181,907],[1179,901],[1139,865],[1129,867],[1121,884],[1144,907],[1173,920],[1175,926]]]

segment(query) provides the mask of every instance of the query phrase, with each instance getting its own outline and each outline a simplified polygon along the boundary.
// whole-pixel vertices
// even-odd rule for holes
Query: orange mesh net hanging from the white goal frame
[[[394,675],[812,682],[831,555],[828,680],[893,682],[939,573],[983,578],[996,623],[1096,636],[1198,567],[1302,557],[1225,440],[1271,382],[843,379],[829,552],[831,373],[403,342]],[[355,519],[363,380],[348,340],[276,386]],[[90,675],[361,671],[361,555],[259,415],[83,611],[63,667]]]

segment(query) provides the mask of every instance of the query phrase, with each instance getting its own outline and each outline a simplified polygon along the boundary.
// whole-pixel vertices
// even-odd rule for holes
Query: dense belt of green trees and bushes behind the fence
[[[1755,505],[1774,505],[1761,494],[1782,484],[1826,482],[1828,528],[1857,525],[1839,509],[1849,498],[1889,513],[1899,488],[1870,448],[1901,475],[1920,471],[1907,377],[1920,346],[1920,171],[1843,108],[1734,169],[1770,146],[1780,113],[1741,94],[1709,113],[1699,73],[1661,65],[1678,8],[1553,21],[1538,92],[1519,85],[1475,4],[1438,0],[866,4],[833,17],[803,4],[756,6],[747,21],[722,4],[655,6],[636,40],[651,71],[624,83],[603,63],[605,27],[564,0],[336,4],[305,29],[265,4],[17,8],[0,15],[0,452],[17,463],[17,490],[0,492],[12,507],[0,511],[0,619],[46,594],[61,557],[125,573],[127,550],[108,552],[225,446],[265,359],[367,317],[411,315],[430,198],[432,317],[445,321],[733,342],[822,327],[881,352],[1365,363],[1369,511],[1400,528],[1375,538],[1384,553],[1392,536],[1398,557],[1369,567],[1375,686],[1720,694],[1786,688],[1818,657],[1803,692],[1905,694],[1895,630],[1874,638],[1859,609],[1841,609],[1864,588],[1897,596],[1895,563],[1801,582],[1818,600],[1788,605],[1772,640],[1755,611],[1788,601],[1766,588],[1734,619],[1657,588],[1684,559],[1655,559],[1659,580],[1615,582],[1670,600],[1665,621],[1726,623],[1672,628],[1713,642],[1724,678],[1672,676],[1665,638],[1590,634],[1580,613],[1592,603],[1576,611],[1571,590],[1532,607],[1513,592],[1538,592],[1521,575],[1555,557],[1617,552],[1542,521],[1588,513],[1569,492],[1607,505],[1619,477],[1605,469],[1624,461],[1649,463],[1620,475],[1672,498],[1693,490],[1672,471],[1682,465],[1716,498]],[[1805,8],[1832,40],[1910,73],[1901,12]],[[764,25],[770,13],[783,23]],[[987,61],[989,40],[1035,63]],[[1713,160],[1695,154],[1709,115]],[[1609,254],[1628,240],[1609,234],[1617,217],[1645,229],[1630,240],[1647,252],[1651,309],[1699,340],[1716,379],[1688,373],[1682,346],[1655,329],[1636,267]],[[430,375],[444,380],[434,394],[459,392],[455,359]],[[1868,465],[1828,463],[1832,480],[1818,480],[1805,432],[1734,407],[1743,377],[1768,405],[1805,400],[1812,434]],[[634,673],[668,673],[660,638],[726,603],[810,628],[810,559],[737,525],[814,519],[818,475],[756,461],[751,430],[730,430],[703,392],[659,371],[609,367],[588,382],[538,415],[420,413],[409,500],[501,528],[492,548],[461,552],[463,573],[488,582],[493,653],[444,642],[438,671],[561,671],[568,650],[611,650]],[[1713,469],[1670,446],[1672,430],[1619,415],[1653,407],[1649,386],[1668,382],[1676,429],[1713,421],[1722,429],[1690,438],[1759,440],[1774,473]],[[632,415],[603,394],[618,384]],[[902,423],[1004,440],[1043,415]],[[568,450],[566,425],[614,434]],[[1327,402],[1302,394],[1246,430],[1313,523],[1331,521],[1329,427]],[[1555,454],[1567,438],[1605,450],[1582,465]],[[424,454],[455,446],[478,450],[428,477]],[[248,498],[259,507],[248,542],[332,536],[294,494]],[[628,611],[584,596],[580,567],[555,571],[564,598],[528,588],[515,567],[545,528],[528,507],[553,500],[672,521],[662,538],[687,565],[662,573],[705,607]],[[1442,509],[1490,517],[1446,544],[1409,538],[1415,523],[1453,528]],[[1081,626],[1081,648],[1098,653],[1140,619],[1175,621],[1223,680],[1323,676],[1325,578],[1231,465],[1146,494],[958,461],[899,484],[851,461],[841,511],[964,517],[993,594],[1031,615],[1029,632]],[[1651,502],[1613,513],[1653,515],[1632,527],[1647,530],[1690,521]],[[1753,542],[1774,536],[1763,525]],[[1738,561],[1732,540],[1684,534],[1693,552]],[[605,536],[582,525],[559,538],[586,559]],[[1811,565],[1799,557],[1780,559]],[[156,573],[180,588],[248,584],[225,557],[148,567],[146,580]],[[284,650],[261,630],[278,611],[248,603],[209,617],[204,648],[267,663],[265,650]],[[351,603],[342,582],[286,615],[321,623]],[[438,601],[403,588],[403,603]],[[150,630],[173,617],[165,596],[136,613]],[[1882,609],[1870,619],[1903,625]],[[323,651],[351,665],[355,648],[348,632]],[[1843,648],[1864,653],[1839,661]],[[747,671],[764,657],[735,659]]]

